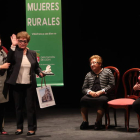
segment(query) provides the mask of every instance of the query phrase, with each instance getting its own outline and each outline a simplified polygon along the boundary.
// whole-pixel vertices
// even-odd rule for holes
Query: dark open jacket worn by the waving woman
[[[37,62],[36,52],[32,50],[27,50],[26,56],[31,63],[31,69],[30,69],[30,81],[32,86],[36,87],[36,76],[35,74],[39,75],[39,73],[42,71],[39,67],[39,64]],[[8,71],[8,77],[6,82],[11,85],[16,84],[16,80],[19,74],[21,62],[23,58],[23,49],[20,49],[16,47],[15,51],[13,51],[11,48],[8,52],[7,61],[11,63],[10,69]]]

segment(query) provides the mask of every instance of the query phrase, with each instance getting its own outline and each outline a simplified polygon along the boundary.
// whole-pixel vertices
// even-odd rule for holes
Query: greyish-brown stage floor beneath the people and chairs
[[[137,132],[138,120],[135,112],[130,113],[130,131],[127,132],[124,125],[124,110],[117,110],[117,123],[114,126],[112,110],[110,110],[110,128],[105,130],[105,119],[103,117],[103,129],[95,131],[94,123],[96,119],[95,110],[89,110],[88,130],[80,130],[82,123],[80,108],[57,108],[49,107],[37,109],[38,129],[36,135],[26,136],[27,120],[25,114],[24,132],[17,136],[16,118],[13,111],[8,111],[5,117],[5,130],[9,133],[7,136],[0,135],[0,140],[132,140],[140,139],[140,132]]]

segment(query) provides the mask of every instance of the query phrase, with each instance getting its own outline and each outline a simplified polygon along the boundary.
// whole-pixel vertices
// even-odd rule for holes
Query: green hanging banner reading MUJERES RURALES
[[[51,66],[54,75],[46,76],[46,84],[63,86],[61,0],[26,0],[26,31],[31,36],[28,47],[37,52],[42,70]]]

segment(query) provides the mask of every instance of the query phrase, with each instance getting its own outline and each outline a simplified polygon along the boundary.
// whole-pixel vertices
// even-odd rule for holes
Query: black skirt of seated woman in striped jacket
[[[81,107],[95,107],[105,109],[107,107],[107,102],[108,97],[105,94],[95,98],[86,94],[81,98],[80,104]]]

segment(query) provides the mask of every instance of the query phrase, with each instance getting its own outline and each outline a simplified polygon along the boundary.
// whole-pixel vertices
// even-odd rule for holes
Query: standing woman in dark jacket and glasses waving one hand
[[[35,135],[36,123],[36,76],[43,77],[42,70],[37,62],[36,52],[29,50],[27,45],[30,35],[19,32],[11,36],[11,48],[7,61],[11,63],[10,76],[7,83],[11,85],[15,100],[17,131],[16,135],[23,133],[23,107],[26,99],[28,132],[27,135]]]

